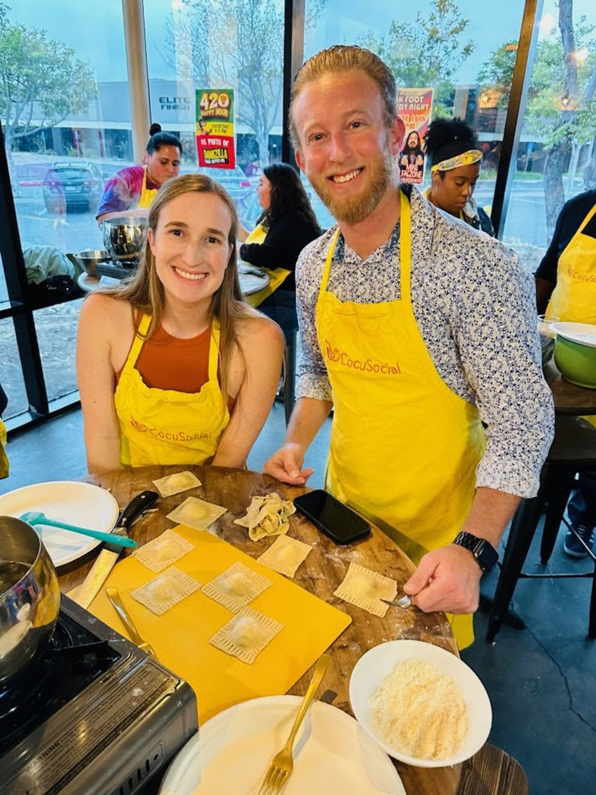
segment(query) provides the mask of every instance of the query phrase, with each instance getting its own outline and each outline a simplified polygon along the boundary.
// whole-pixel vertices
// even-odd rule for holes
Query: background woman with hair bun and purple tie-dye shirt
[[[97,208],[98,223],[130,210],[148,210],[164,182],[178,176],[182,144],[171,133],[152,124],[144,165],[120,169],[107,181]]]

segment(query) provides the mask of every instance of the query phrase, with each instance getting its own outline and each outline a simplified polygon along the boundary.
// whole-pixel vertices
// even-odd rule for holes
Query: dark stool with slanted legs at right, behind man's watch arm
[[[501,564],[501,574],[490,612],[486,640],[492,642],[509,610],[513,591],[520,577],[590,577],[592,595],[590,599],[590,621],[588,635],[596,638],[596,577],[590,574],[526,574],[521,571],[536,526],[546,499],[548,511],[544,522],[544,533],[540,547],[543,563],[548,562],[555,545],[559,525],[567,505],[575,473],[596,469],[596,428],[582,417],[555,416],[555,439],[548,452],[540,475],[540,489],[536,497],[524,499],[517,508],[511,522],[509,539]],[[594,556],[593,556],[594,557]]]

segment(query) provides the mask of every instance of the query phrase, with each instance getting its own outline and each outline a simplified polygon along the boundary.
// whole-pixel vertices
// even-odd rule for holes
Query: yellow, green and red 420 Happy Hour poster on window
[[[197,89],[195,134],[199,166],[235,169],[233,88]]]

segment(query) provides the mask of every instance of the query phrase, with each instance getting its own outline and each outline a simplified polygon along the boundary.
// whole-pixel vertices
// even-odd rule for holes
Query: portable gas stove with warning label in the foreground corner
[[[189,684],[63,595],[48,648],[0,684],[0,793],[133,795],[197,727]]]

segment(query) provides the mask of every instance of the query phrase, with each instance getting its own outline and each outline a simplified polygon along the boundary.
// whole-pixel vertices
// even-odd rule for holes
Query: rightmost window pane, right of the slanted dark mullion
[[[594,25],[592,0],[544,0],[504,235],[532,273],[563,204],[596,188]]]

